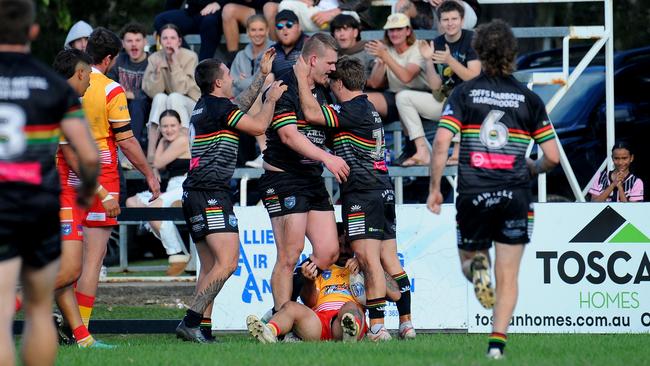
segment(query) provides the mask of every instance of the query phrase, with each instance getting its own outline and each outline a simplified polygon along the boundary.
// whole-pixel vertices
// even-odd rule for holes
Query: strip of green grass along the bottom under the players
[[[259,344],[243,334],[217,335],[218,344],[185,343],[173,335],[99,336],[115,350],[63,347],[59,365],[483,365],[485,335],[420,334],[414,341],[375,344]],[[647,365],[649,335],[517,335],[509,339],[511,365]]]

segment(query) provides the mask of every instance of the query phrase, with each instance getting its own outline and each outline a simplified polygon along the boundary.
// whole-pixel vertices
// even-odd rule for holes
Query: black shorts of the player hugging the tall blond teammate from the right
[[[395,192],[392,189],[348,192],[342,201],[341,216],[348,240],[395,239]]]

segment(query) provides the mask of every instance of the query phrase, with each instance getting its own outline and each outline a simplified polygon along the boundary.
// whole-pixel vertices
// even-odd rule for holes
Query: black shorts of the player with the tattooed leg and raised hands
[[[195,242],[208,234],[239,232],[230,193],[187,190],[182,201],[185,223]]]

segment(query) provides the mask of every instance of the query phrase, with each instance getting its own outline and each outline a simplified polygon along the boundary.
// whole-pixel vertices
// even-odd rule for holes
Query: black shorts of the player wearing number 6
[[[493,241],[504,244],[530,241],[533,203],[528,189],[459,194],[456,211],[459,249],[489,249]]]

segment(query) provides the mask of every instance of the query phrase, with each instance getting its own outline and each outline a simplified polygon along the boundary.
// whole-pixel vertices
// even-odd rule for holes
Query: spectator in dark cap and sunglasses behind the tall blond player
[[[291,10],[282,10],[276,15],[275,29],[278,41],[273,45],[275,60],[271,72],[279,77],[291,70],[296,63],[307,36],[300,28],[298,17]]]

